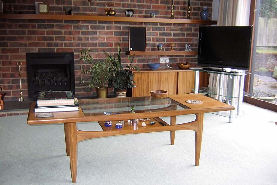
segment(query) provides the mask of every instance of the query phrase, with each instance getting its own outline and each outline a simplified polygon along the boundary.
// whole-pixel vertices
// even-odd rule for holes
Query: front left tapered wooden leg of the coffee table
[[[68,141],[69,141],[69,159],[70,159],[70,170],[71,179],[73,183],[76,183],[77,177],[77,129],[76,123],[68,124]]]

